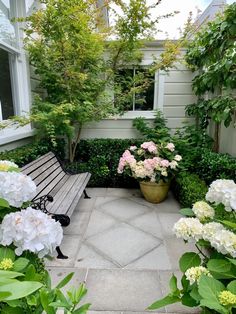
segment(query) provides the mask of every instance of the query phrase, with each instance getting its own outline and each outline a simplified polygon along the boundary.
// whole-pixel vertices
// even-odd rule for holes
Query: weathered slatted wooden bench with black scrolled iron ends
[[[70,174],[66,172],[56,156],[49,152],[22,168],[37,186],[32,202],[34,207],[58,220],[62,226],[70,223],[70,217],[81,195],[89,198],[85,188],[91,177],[89,172]],[[58,258],[67,258],[57,248]]]

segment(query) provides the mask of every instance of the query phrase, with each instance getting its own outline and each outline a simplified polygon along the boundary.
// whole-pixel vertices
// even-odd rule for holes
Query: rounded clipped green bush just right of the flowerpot
[[[172,183],[172,190],[182,207],[192,207],[195,202],[205,199],[208,188],[198,175],[182,172]]]

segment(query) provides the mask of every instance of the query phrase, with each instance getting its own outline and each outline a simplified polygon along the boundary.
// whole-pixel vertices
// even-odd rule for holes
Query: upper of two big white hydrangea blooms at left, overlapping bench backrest
[[[0,182],[0,198],[4,198],[14,207],[21,207],[36,192],[35,183],[23,173],[0,171]]]

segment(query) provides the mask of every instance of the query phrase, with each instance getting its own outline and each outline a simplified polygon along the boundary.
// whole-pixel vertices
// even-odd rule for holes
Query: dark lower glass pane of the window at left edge
[[[8,52],[0,49],[0,101],[3,120],[14,115]]]

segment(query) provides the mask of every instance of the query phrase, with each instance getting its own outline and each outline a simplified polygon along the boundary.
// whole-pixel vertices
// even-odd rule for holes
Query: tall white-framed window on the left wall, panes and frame
[[[32,2],[26,1],[28,5]],[[29,111],[30,84],[22,47],[23,32],[21,25],[12,22],[12,18],[26,15],[27,3],[25,0],[0,0],[0,120]],[[0,145],[29,131],[30,126],[1,130]]]

